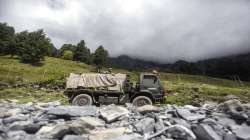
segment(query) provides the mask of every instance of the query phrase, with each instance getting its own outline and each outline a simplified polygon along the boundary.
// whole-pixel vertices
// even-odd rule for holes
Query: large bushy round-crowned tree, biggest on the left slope
[[[49,54],[52,43],[43,30],[23,31],[17,34],[18,56],[24,63],[39,63]]]

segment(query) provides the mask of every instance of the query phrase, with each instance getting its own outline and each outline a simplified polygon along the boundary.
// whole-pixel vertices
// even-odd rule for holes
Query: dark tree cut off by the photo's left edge
[[[0,54],[16,54],[15,29],[7,23],[0,23]]]

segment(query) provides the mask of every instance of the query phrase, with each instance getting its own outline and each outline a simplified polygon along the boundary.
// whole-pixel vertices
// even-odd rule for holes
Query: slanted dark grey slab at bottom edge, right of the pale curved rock
[[[211,126],[207,124],[198,124],[193,126],[193,132],[197,139],[201,140],[223,140],[222,136],[218,135]]]

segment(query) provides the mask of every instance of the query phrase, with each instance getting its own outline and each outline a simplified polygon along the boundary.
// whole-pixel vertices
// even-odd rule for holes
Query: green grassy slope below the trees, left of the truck
[[[80,62],[58,58],[45,58],[42,66],[20,63],[18,59],[8,56],[0,57],[0,79],[3,82],[22,83],[53,83],[64,80],[69,73],[82,73],[94,70],[93,66]]]

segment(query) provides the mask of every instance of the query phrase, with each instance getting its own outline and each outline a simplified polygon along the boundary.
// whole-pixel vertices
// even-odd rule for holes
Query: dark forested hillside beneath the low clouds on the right
[[[206,75],[250,81],[249,52],[197,62],[179,60],[175,63],[160,64],[157,62],[131,58],[126,55],[110,58],[110,62],[113,66],[127,70],[160,69],[164,72]]]

